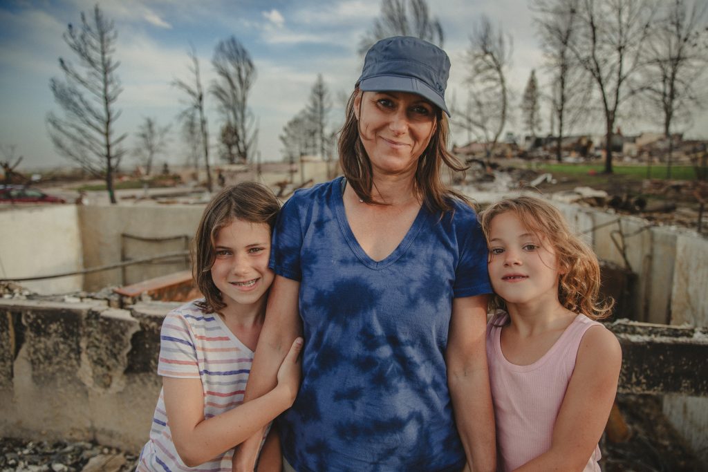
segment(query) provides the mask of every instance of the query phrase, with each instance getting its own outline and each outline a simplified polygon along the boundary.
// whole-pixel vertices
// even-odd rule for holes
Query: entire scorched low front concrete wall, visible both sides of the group
[[[0,434],[96,440],[139,451],[161,388],[161,323],[178,305],[111,309],[92,300],[0,299]],[[626,353],[619,391],[679,392],[666,396],[664,411],[708,461],[708,398],[687,396],[708,392],[700,363],[705,331],[635,324],[609,326]],[[652,371],[653,365],[666,365],[665,372]]]

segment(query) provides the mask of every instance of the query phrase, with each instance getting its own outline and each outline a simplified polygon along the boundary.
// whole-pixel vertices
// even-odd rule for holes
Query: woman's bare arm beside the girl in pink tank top
[[[467,463],[475,472],[496,470],[494,414],[486,363],[486,295],[452,300],[447,337],[447,384]]]

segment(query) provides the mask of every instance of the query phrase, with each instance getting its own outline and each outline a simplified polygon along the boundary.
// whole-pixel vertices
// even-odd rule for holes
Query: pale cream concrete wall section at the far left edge
[[[0,278],[34,277],[84,268],[76,205],[42,205],[0,212]],[[84,277],[21,282],[33,292],[81,290]]]

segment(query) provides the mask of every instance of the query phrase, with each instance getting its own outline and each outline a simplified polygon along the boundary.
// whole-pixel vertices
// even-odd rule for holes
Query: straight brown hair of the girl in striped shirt
[[[226,306],[211,272],[219,229],[228,226],[234,219],[241,219],[249,223],[268,224],[272,232],[279,210],[280,202],[273,192],[256,182],[241,182],[224,188],[209,202],[192,243],[192,276],[204,295],[204,300],[197,301],[197,306],[205,313],[215,313]]]

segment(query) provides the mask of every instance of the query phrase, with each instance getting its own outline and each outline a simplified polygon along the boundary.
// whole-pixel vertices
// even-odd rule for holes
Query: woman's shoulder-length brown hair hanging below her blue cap
[[[371,205],[384,205],[381,202],[376,202],[372,197],[371,162],[361,141],[359,120],[357,120],[354,110],[354,101],[359,93],[359,87],[356,86],[347,102],[346,121],[341,129],[338,142],[339,163],[347,183],[352,186],[361,200]],[[472,206],[472,202],[466,196],[447,188],[442,183],[440,171],[443,164],[457,172],[464,171],[467,166],[464,166],[457,157],[447,150],[447,141],[450,136],[447,116],[438,106],[433,103],[430,105],[435,109],[433,135],[418,159],[414,191],[431,212],[446,212],[452,209],[452,205],[447,201],[450,197],[457,197]],[[361,104],[359,112],[359,116],[361,116]]]

